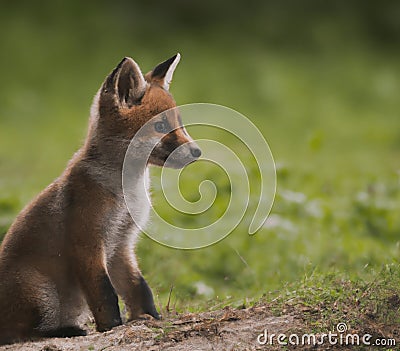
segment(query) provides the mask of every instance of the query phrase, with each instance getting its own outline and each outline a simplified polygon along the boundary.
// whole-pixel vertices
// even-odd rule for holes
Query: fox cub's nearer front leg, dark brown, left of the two
[[[89,250],[90,251],[90,250]],[[118,296],[104,267],[101,252],[82,252],[75,270],[87,303],[100,332],[121,325]]]

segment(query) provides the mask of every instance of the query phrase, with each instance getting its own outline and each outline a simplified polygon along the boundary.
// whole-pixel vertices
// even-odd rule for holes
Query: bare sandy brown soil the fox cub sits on
[[[287,336],[296,333],[311,333],[310,319],[305,317],[307,311],[289,309],[279,317],[273,316],[270,306],[259,304],[250,308],[224,309],[187,314],[169,314],[162,320],[143,319],[127,323],[106,333],[97,333],[89,328],[85,337],[53,338],[29,341],[0,347],[0,351],[125,351],[125,350],[379,350],[378,347],[332,346],[323,345],[282,346],[276,337],[283,333]],[[369,324],[369,323],[368,323]],[[375,337],[388,336],[382,328],[376,326],[368,331]],[[385,328],[390,335],[398,336],[398,326]],[[274,344],[260,344],[257,337],[268,330],[269,335],[276,335]],[[328,330],[326,331],[328,332]],[[351,331],[349,331],[351,332]],[[399,344],[398,338],[396,338]],[[264,338],[260,339],[265,341]],[[287,340],[287,339],[286,339]],[[397,350],[385,348],[385,350]]]

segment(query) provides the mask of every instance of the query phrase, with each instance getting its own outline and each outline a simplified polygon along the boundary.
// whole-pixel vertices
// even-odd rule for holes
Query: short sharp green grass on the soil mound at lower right
[[[342,272],[313,272],[277,293],[267,294],[262,302],[278,316],[300,313],[301,330],[293,332],[335,333],[336,326],[344,323],[349,334],[370,334],[370,342],[384,338],[394,346],[400,322],[399,266],[387,264],[374,273],[374,280],[366,282],[348,279]],[[359,349],[370,347],[361,345]]]

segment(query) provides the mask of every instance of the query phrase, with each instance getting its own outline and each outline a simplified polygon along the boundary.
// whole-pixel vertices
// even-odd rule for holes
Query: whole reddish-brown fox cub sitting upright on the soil
[[[201,156],[169,92],[179,61],[176,54],[143,75],[123,58],[93,99],[83,146],[10,226],[0,247],[0,344],[84,336],[88,314],[98,332],[110,330],[122,324],[118,296],[128,321],[161,318],[135,245],[149,217],[149,167],[183,168]],[[131,172],[133,219],[122,168],[130,141],[146,124],[135,157],[159,142]]]

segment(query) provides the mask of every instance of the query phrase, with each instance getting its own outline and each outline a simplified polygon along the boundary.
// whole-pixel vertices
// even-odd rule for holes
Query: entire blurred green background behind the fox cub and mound
[[[3,1],[0,237],[82,144],[92,97],[121,58],[146,72],[180,52],[178,104],[249,117],[278,188],[252,237],[242,226],[188,252],[144,237],[158,303],[172,285],[173,303],[193,306],[257,298],[314,271],[374,279],[400,251],[399,18],[395,0]]]

